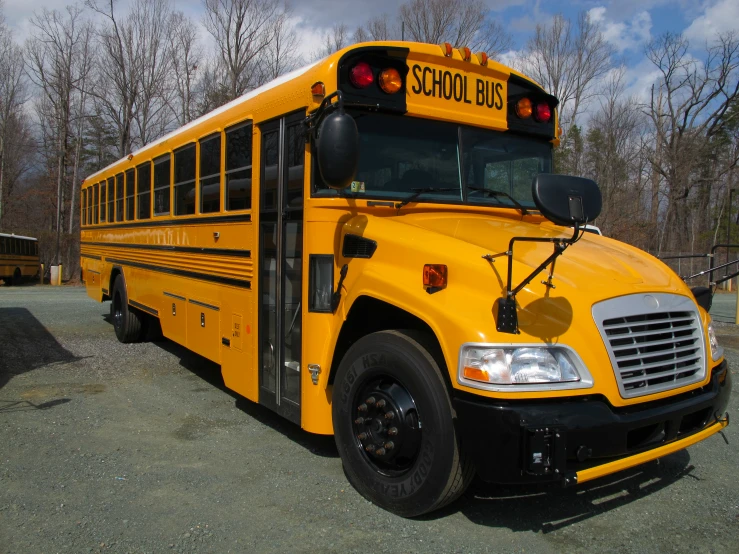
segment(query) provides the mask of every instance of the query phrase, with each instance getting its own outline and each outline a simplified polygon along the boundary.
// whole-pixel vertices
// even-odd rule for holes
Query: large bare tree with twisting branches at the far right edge
[[[739,162],[736,142],[727,135],[739,101],[739,40],[734,33],[719,35],[699,60],[687,39],[666,33],[647,46],[646,55],[660,75],[644,106],[655,141],[650,161],[666,187],[667,246],[682,245],[710,232],[713,188]],[[691,228],[689,213],[703,223]]]

